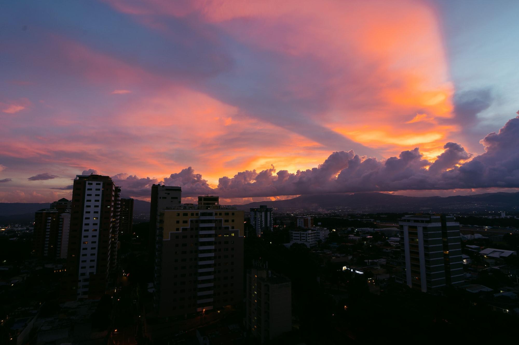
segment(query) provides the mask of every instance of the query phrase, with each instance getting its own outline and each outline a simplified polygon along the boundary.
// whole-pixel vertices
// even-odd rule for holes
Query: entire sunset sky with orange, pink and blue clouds
[[[0,4],[0,202],[519,188],[519,2]]]

